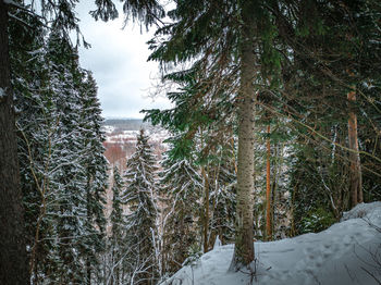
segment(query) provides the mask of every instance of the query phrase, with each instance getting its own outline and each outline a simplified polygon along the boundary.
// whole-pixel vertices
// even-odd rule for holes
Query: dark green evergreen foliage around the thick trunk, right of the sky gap
[[[285,128],[271,134],[275,235],[320,231],[303,230],[305,219],[321,215],[329,226],[361,201],[352,198],[358,181],[367,201],[378,197],[372,181],[380,177],[380,148],[373,139],[380,116],[380,102],[373,97],[380,74],[373,65],[380,57],[379,12],[377,1],[180,1],[168,13],[173,23],[158,29],[149,42],[150,60],[161,63],[163,80],[176,84],[177,89],[168,92],[175,107],[146,111],[146,119],[176,134],[170,139],[173,158],[196,152],[201,162],[210,162],[212,146],[222,145],[225,134],[233,136],[242,122],[232,114],[243,99],[239,79],[246,75],[239,64],[249,60],[241,61],[241,48],[253,33],[257,65],[247,76],[257,91],[256,112],[266,111],[266,121],[270,117]],[[246,20],[253,22],[253,30]],[[349,92],[356,94],[356,101],[348,101]],[[347,131],[351,116],[357,116],[362,174],[353,170],[359,152],[348,147],[347,137],[354,135]],[[268,123],[257,116],[256,124],[258,134]],[[202,146],[198,132],[204,132]],[[256,205],[263,201],[260,142],[254,154]],[[259,206],[258,226],[265,224],[263,213]]]

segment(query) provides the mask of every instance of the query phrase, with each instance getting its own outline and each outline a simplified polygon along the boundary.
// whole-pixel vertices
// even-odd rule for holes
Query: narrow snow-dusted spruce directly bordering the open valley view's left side
[[[79,78],[81,79],[81,78]],[[91,269],[95,271],[95,280],[99,282],[99,257],[105,250],[106,234],[106,188],[107,188],[107,160],[103,157],[105,140],[101,132],[103,119],[100,113],[100,103],[97,98],[96,82],[90,72],[82,76],[82,111],[81,135],[83,139],[82,164],[86,174],[86,239],[84,259],[86,259],[87,282],[91,281]]]

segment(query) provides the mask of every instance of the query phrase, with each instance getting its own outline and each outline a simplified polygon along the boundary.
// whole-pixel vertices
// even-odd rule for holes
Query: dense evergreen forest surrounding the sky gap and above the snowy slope
[[[122,2],[173,108],[143,110],[162,159],[142,129],[118,168],[77,1],[0,0],[0,284],[157,284],[216,240],[236,272],[381,200],[378,0]]]

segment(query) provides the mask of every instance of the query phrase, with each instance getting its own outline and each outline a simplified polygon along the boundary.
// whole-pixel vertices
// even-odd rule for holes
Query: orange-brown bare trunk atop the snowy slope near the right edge
[[[348,92],[348,101],[349,103],[356,101],[355,90]],[[349,110],[348,144],[349,149],[353,150],[349,152],[349,195],[352,207],[355,207],[358,202],[362,202],[362,178],[358,148],[357,116],[354,110]]]

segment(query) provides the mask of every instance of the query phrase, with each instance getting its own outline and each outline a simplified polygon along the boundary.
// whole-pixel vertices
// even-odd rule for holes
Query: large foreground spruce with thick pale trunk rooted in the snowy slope
[[[224,116],[219,115],[214,102],[233,102],[223,114],[236,116],[238,128],[236,239],[231,269],[239,270],[254,260],[256,89],[274,88],[279,82],[280,53],[273,45],[276,32],[265,1],[179,1],[169,15],[174,23],[157,33],[167,40],[151,41],[150,59],[163,67],[194,60],[192,70],[199,73],[193,99],[204,101],[209,111],[198,113],[201,124],[216,119],[223,125]],[[198,108],[199,104],[190,104],[188,112],[197,113]],[[186,138],[197,127],[196,123]],[[210,148],[212,140],[208,142]]]

